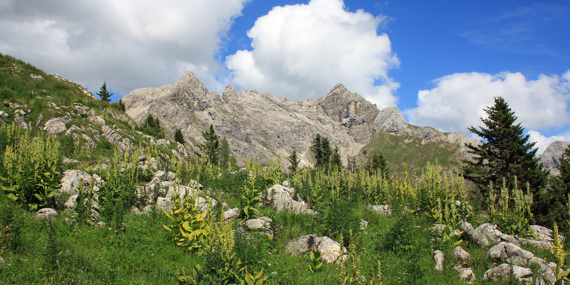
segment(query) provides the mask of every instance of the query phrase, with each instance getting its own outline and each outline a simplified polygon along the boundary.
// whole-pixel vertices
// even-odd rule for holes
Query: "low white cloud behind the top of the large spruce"
[[[491,75],[457,73],[434,80],[435,88],[418,92],[418,107],[404,113],[410,124],[429,125],[444,132],[467,133],[485,117],[494,96],[502,96],[527,130],[551,131],[570,123],[570,70],[527,80],[520,72]],[[536,134],[535,134],[535,137]]]

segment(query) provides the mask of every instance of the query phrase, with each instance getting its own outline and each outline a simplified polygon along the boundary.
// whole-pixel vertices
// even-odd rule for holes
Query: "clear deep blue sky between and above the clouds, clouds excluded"
[[[274,6],[308,1],[251,1],[235,19],[221,58],[251,50],[246,35]],[[521,72],[528,79],[570,69],[570,5],[567,1],[350,1],[391,19],[377,32],[388,34],[401,60],[390,70],[401,83],[400,109],[417,107],[417,92],[455,72]]]

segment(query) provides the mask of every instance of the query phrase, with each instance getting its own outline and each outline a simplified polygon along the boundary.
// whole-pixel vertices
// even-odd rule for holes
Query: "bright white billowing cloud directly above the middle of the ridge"
[[[393,105],[399,87],[388,76],[398,66],[386,34],[385,17],[344,10],[342,0],[274,7],[247,32],[251,51],[227,57],[233,84],[289,99],[320,97],[337,83],[379,108]]]

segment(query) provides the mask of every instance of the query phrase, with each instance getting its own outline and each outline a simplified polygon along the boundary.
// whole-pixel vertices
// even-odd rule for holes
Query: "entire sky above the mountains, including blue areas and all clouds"
[[[568,1],[0,0],[0,52],[113,99],[185,70],[292,100],[340,82],[467,135],[503,96],[541,152],[570,140],[569,16]]]

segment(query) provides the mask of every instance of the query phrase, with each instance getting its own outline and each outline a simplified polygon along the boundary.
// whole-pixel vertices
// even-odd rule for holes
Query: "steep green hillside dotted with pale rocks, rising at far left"
[[[69,133],[55,135],[62,145],[63,156],[78,160],[78,167],[89,167],[112,156],[113,145],[103,136],[103,125],[112,127],[135,146],[144,147],[150,142],[149,137],[144,137],[150,130],[140,128],[121,111],[118,103],[98,100],[80,84],[3,54],[0,54],[0,100],[3,102],[0,124],[16,123],[22,127],[23,122],[33,136],[48,135],[44,130],[46,122],[67,116],[65,127]],[[104,122],[95,120],[99,117]],[[71,128],[72,125],[76,128]],[[0,142],[0,146],[5,148],[5,143]],[[158,146],[158,152],[164,160],[169,160],[173,148],[176,144]]]

